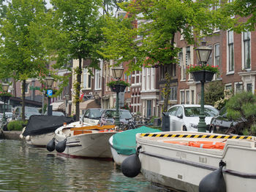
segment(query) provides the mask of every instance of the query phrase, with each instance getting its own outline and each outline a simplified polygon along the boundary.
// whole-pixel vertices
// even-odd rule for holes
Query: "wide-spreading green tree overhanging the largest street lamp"
[[[180,49],[176,47],[176,34],[184,35],[188,44],[197,43],[197,38],[211,34],[213,25],[229,28],[233,19],[222,9],[210,9],[219,1],[138,0],[123,4],[129,12],[125,20],[108,18],[108,28],[103,28],[108,39],[102,55],[115,59],[117,64],[129,61],[129,72],[141,70],[143,66],[167,66],[164,111],[170,98],[170,69],[178,63]],[[140,27],[136,21],[141,20]],[[133,25],[132,25],[132,24]],[[137,46],[135,37],[140,35],[142,45]],[[136,58],[136,59],[134,59]]]

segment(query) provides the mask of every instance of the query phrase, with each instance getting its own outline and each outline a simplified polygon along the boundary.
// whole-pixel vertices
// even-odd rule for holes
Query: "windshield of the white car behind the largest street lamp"
[[[200,107],[185,107],[185,116],[186,117],[199,117],[200,115]],[[214,117],[218,115],[218,110],[210,107],[205,107],[205,115],[206,117]]]

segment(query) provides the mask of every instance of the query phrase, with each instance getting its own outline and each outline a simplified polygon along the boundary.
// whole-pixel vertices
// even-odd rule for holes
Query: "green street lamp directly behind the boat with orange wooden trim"
[[[116,78],[116,80],[120,80],[122,75],[123,75],[124,68],[122,68],[122,67],[114,67],[114,68],[112,68],[112,72],[113,72],[113,76]],[[120,126],[119,92],[120,92],[120,88],[117,88],[116,89],[116,117],[115,117],[115,125],[118,128]]]

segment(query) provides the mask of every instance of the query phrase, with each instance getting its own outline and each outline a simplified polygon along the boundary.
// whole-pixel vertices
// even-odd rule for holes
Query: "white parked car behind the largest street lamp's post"
[[[211,118],[219,114],[211,105],[205,105],[206,130],[209,130]],[[176,104],[169,110],[170,131],[197,131],[199,123],[200,104]]]

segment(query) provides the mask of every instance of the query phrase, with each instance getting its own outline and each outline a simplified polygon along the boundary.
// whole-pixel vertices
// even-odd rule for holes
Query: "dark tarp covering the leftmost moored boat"
[[[48,134],[63,126],[63,123],[72,123],[73,118],[55,115],[32,115],[23,132],[23,136]]]

